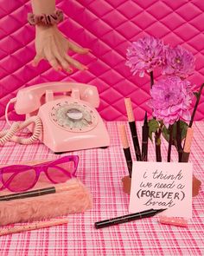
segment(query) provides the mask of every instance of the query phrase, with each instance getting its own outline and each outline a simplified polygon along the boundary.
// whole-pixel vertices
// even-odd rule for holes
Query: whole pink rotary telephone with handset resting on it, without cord
[[[105,124],[95,109],[98,107],[97,88],[75,82],[48,82],[21,89],[15,104],[17,114],[41,118],[40,140],[54,153],[110,145]]]

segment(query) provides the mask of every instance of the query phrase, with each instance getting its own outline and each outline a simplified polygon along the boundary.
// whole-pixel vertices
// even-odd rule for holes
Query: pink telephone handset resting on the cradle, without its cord
[[[29,114],[41,107],[41,96],[53,93],[79,91],[80,100],[88,102],[93,108],[99,107],[99,93],[95,86],[76,82],[48,82],[18,91],[15,109],[19,115]]]

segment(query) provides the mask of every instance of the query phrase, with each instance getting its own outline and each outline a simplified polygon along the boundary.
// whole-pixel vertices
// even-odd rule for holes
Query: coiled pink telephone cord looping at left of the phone
[[[8,105],[11,102],[15,102],[15,101],[16,101],[16,98],[12,99],[8,103]],[[5,111],[7,122],[9,122],[8,105]],[[26,128],[31,123],[34,123],[35,125],[33,135],[31,135],[29,138],[22,138],[15,135],[18,131],[20,131],[22,128]],[[15,141],[17,143],[25,144],[25,145],[32,144],[34,141],[36,141],[39,138],[39,136],[41,135],[41,131],[42,131],[42,123],[41,123],[41,118],[38,116],[31,116],[29,117],[29,119],[23,122],[14,122],[9,129],[6,129],[0,132],[0,146],[3,146],[6,143],[6,141]]]

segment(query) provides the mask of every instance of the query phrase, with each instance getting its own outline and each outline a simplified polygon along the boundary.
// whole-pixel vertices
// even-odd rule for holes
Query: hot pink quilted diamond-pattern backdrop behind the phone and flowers
[[[28,0],[0,0],[0,116],[18,89],[39,82],[76,81],[96,85],[105,120],[124,120],[124,97],[130,96],[137,120],[143,119],[149,96],[149,76],[132,76],[124,66],[127,46],[140,36],[163,38],[182,45],[196,57],[196,72],[189,80],[198,88],[204,82],[204,1],[59,0],[66,19],[60,25],[73,41],[92,49],[88,56],[74,56],[89,70],[73,75],[57,73],[48,63],[30,65],[35,56],[35,29],[27,23]],[[157,76],[157,75],[156,75]],[[157,77],[156,77],[157,78]],[[203,97],[196,115],[204,117]],[[10,118],[19,118],[10,108]]]

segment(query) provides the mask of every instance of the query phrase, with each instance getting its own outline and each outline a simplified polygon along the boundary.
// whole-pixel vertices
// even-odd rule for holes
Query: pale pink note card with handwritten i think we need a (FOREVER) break
[[[192,164],[135,161],[130,213],[163,209],[169,217],[192,217]]]

